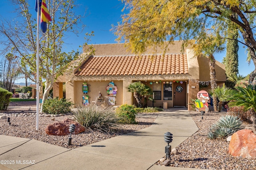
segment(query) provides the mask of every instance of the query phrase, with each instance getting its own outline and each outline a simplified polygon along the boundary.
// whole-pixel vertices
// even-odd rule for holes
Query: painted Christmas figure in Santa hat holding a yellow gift
[[[210,100],[209,95],[206,91],[201,90],[197,93],[197,99],[195,100],[196,111],[208,112],[208,100]]]

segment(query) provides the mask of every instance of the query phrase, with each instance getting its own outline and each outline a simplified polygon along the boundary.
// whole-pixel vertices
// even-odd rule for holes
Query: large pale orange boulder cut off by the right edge
[[[249,129],[237,131],[232,135],[228,147],[232,156],[256,159],[256,135]]]

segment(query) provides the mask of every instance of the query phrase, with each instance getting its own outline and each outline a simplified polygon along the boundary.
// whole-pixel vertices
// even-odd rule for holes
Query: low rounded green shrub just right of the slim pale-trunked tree
[[[61,98],[54,98],[50,100],[45,100],[43,105],[43,112],[48,114],[64,114],[69,113],[71,111],[70,107],[72,106],[72,102],[68,102],[68,100]]]

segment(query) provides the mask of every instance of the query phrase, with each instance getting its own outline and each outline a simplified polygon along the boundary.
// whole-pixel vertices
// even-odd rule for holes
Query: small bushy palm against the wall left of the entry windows
[[[142,107],[144,105],[144,100],[145,100],[144,96],[149,95],[148,90],[150,88],[147,88],[145,84],[139,81],[139,82],[133,82],[129,84],[127,89],[128,89],[128,92],[133,93],[133,96],[136,99],[136,102],[138,103],[138,107]]]

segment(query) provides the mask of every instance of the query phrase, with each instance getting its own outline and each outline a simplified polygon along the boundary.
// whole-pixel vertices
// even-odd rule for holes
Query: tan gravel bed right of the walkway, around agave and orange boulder
[[[200,113],[190,111],[199,130],[181,143],[176,149],[180,154],[171,155],[170,167],[186,167],[214,170],[256,170],[256,160],[234,157],[228,153],[229,143],[226,139],[207,138],[209,127],[216,123],[226,112],[208,112],[203,120]],[[253,126],[244,123],[244,128],[254,130]],[[255,133],[255,131],[254,131]],[[158,161],[158,165],[162,162]]]

